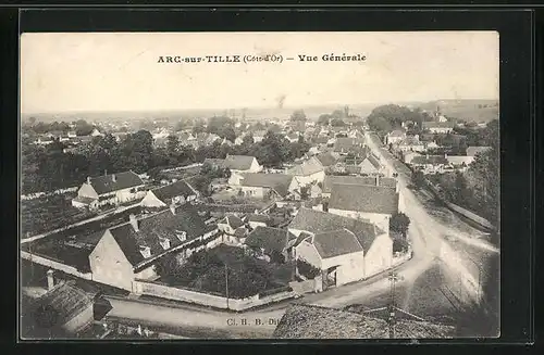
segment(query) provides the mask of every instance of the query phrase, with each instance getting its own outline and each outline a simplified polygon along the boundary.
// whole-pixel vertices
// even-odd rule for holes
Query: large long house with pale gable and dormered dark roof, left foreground
[[[88,256],[92,280],[132,291],[133,280],[157,278],[154,264],[162,256],[180,252],[186,258],[218,232],[189,205],[144,218],[129,215],[127,223],[98,234]]]

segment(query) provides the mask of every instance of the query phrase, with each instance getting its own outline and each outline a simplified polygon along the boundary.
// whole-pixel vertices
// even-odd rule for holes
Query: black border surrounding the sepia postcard
[[[14,9],[12,9],[14,10]],[[2,13],[2,35],[11,38],[16,36],[13,30],[15,11]],[[384,11],[375,9],[357,10],[318,10],[290,11],[279,9],[271,11],[259,9],[193,9],[188,11],[136,10],[131,12],[119,10],[59,10],[59,11],[23,11],[21,13],[24,31],[224,31],[224,30],[459,30],[459,29],[494,29],[500,34],[500,129],[502,129],[502,338],[485,340],[479,343],[530,343],[533,337],[533,290],[529,288],[532,281],[532,262],[534,251],[534,193],[533,174],[534,159],[534,123],[533,123],[533,29],[530,11],[452,11],[418,10]],[[16,23],[16,18],[15,18]],[[16,28],[16,25],[15,25]],[[3,38],[2,38],[3,39]],[[13,38],[11,38],[13,40]],[[16,101],[17,77],[17,45],[10,47],[3,41],[2,59],[2,105],[4,119],[2,124],[8,129],[3,132],[11,137],[18,137],[12,132],[17,128],[11,122],[18,113]],[[2,45],[4,46],[4,45]],[[14,65],[15,64],[15,65]],[[11,67],[12,69],[9,69]],[[7,69],[8,68],[8,69]],[[4,76],[3,74],[12,74]],[[15,93],[14,93],[15,92]],[[7,122],[8,121],[8,122]],[[13,126],[10,126],[13,125]],[[13,130],[11,130],[11,128]],[[8,132],[11,131],[11,132]],[[9,160],[4,154],[17,161],[14,145],[3,140],[2,165]],[[14,154],[11,154],[14,153]],[[7,181],[7,172],[2,168],[2,181]],[[17,172],[14,169],[14,172]],[[15,176],[11,175],[12,178]],[[11,181],[10,181],[11,182]],[[4,183],[13,186],[17,181]],[[16,194],[16,192],[15,192]],[[8,198],[9,205],[13,206],[17,196]],[[7,203],[7,205],[8,205]],[[13,203],[13,204],[12,204]],[[13,211],[13,210],[12,210]],[[14,213],[15,214],[15,213]],[[13,220],[16,220],[14,215]],[[16,230],[16,228],[15,228]],[[13,234],[12,234],[13,236]],[[17,248],[18,245],[15,245]],[[13,257],[13,256],[10,256]],[[15,275],[15,272],[13,272]],[[15,283],[16,284],[16,283]],[[5,308],[12,306],[7,305]],[[14,307],[13,307],[14,308]],[[13,309],[12,308],[12,309]],[[3,333],[3,332],[2,332]],[[247,343],[247,341],[244,341]],[[272,341],[277,343],[276,341]],[[477,343],[475,340],[456,340],[455,343]],[[202,343],[202,342],[190,342]],[[220,342],[207,342],[220,343]],[[228,343],[239,343],[230,341]],[[270,343],[270,341],[251,341],[250,343]],[[283,342],[282,342],[283,343]],[[309,343],[298,341],[297,344]],[[312,342],[316,344],[316,342]],[[321,341],[319,344],[337,344],[336,341]],[[344,342],[342,342],[344,343]],[[351,344],[366,343],[350,341]],[[388,341],[373,341],[384,344]],[[425,341],[421,341],[425,343]],[[176,343],[178,345],[180,343]],[[122,346],[122,344],[115,344]],[[27,347],[27,344],[20,346]],[[61,346],[72,346],[63,343]],[[124,347],[124,346],[123,346]],[[161,346],[162,347],[162,346]],[[457,347],[457,346],[456,346]],[[143,347],[149,350],[149,347]],[[459,351],[459,348],[457,350]]]

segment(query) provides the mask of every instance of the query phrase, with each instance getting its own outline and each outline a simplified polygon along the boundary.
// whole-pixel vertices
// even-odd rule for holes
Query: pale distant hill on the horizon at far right
[[[498,119],[498,100],[436,100],[430,102],[407,103],[412,107],[434,112],[437,106],[446,117],[487,123]]]

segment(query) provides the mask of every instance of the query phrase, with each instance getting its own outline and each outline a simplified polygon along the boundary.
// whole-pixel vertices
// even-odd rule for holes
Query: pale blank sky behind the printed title
[[[159,63],[281,54],[283,63]],[[366,55],[325,62],[323,54]],[[317,62],[299,62],[299,54]],[[285,58],[295,58],[287,61]],[[21,111],[164,111],[498,99],[498,34],[71,33],[21,37]]]

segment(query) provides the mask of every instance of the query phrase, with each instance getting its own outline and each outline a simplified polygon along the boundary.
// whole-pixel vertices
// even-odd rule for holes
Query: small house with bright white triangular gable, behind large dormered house
[[[172,203],[175,205],[184,204],[188,201],[194,201],[198,198],[199,192],[196,191],[185,180],[180,180],[153,190],[149,190],[146,196],[140,202],[143,207],[165,207]]]

